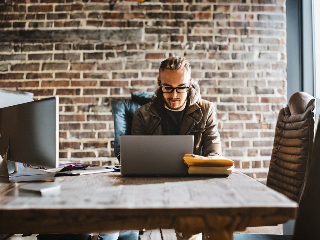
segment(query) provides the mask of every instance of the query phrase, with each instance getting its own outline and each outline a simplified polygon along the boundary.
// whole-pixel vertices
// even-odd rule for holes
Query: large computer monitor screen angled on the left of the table
[[[58,96],[0,108],[2,158],[6,153],[13,162],[59,166]]]

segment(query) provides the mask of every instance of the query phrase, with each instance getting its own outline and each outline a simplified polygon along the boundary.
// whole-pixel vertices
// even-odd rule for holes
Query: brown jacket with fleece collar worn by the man
[[[132,119],[132,135],[164,135],[161,111],[164,101],[160,88],[151,102],[138,108]],[[180,135],[194,135],[194,154],[221,155],[220,134],[217,130],[216,111],[212,102],[201,99],[199,85],[191,84],[185,116],[180,126]]]

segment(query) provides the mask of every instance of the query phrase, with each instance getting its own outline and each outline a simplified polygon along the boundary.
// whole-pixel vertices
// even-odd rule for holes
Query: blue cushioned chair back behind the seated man
[[[111,111],[115,127],[114,152],[120,161],[120,136],[130,135],[131,122],[137,108],[150,102],[153,92],[132,92],[132,99],[111,98]]]

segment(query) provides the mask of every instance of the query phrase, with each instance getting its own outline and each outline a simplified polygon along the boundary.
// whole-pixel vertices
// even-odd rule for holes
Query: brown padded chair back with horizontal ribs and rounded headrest
[[[314,131],[315,98],[306,92],[296,92],[278,115],[267,186],[298,203]]]

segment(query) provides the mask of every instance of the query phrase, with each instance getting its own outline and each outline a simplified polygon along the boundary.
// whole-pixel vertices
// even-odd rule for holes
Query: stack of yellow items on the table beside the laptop
[[[235,168],[235,162],[224,156],[185,154],[183,160],[189,174],[230,175]]]

